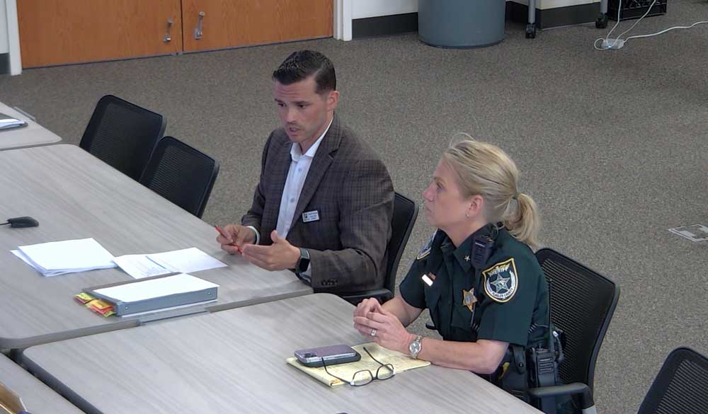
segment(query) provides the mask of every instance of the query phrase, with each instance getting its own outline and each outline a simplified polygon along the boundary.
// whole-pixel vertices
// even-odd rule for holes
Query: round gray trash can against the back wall
[[[418,36],[438,47],[484,47],[504,39],[504,0],[418,0]]]

